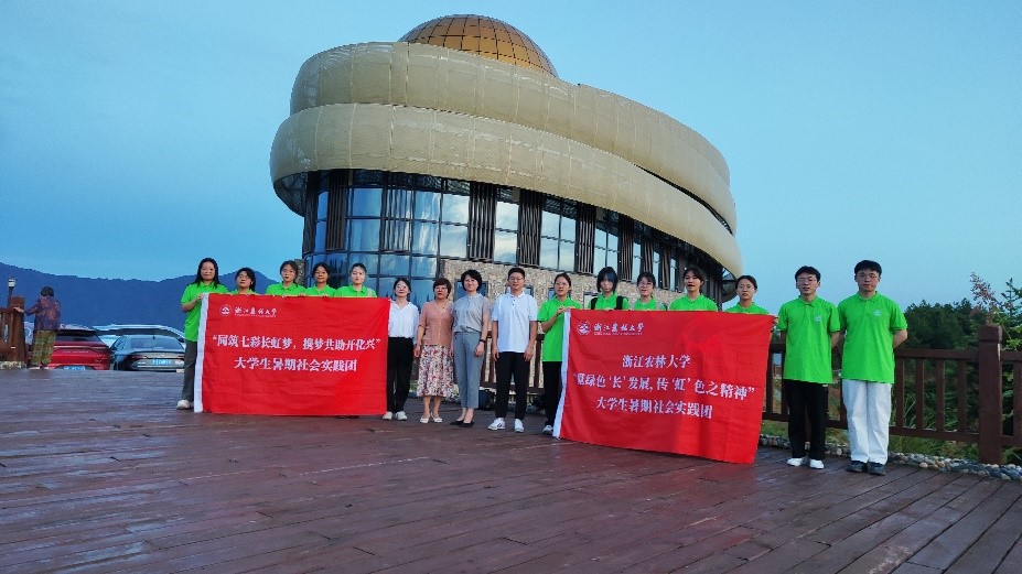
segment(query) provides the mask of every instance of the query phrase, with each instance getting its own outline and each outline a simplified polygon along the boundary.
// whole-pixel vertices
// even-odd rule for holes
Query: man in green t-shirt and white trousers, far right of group
[[[880,263],[856,264],[859,292],[838,303],[845,334],[841,397],[848,410],[848,470],[885,475],[891,427],[894,349],[908,338],[908,323],[897,303],[876,292]]]

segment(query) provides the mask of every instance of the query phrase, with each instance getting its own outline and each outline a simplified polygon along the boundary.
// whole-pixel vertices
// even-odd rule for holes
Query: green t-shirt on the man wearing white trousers
[[[845,349],[841,378],[894,383],[894,333],[908,328],[897,303],[874,293],[859,293],[838,303]]]

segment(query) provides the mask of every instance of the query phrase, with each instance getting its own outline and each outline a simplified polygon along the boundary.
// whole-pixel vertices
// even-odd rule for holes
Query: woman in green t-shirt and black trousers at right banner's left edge
[[[564,349],[564,313],[569,308],[582,308],[582,304],[571,299],[571,278],[568,273],[558,273],[553,278],[553,299],[539,307],[539,326],[542,327],[542,410],[547,414],[547,424],[542,434],[553,434],[553,419],[557,416],[558,403],[561,401],[561,362]]]

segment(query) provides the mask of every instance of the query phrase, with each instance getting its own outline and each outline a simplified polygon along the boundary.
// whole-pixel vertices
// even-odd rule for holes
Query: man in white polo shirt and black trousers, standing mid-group
[[[613,270],[612,270],[613,271]],[[616,280],[615,280],[616,284]],[[513,267],[507,272],[508,293],[493,305],[493,359],[497,376],[497,399],[491,431],[504,430],[510,382],[515,380],[515,432],[525,432],[525,408],[529,391],[529,364],[536,351],[539,307],[525,292],[525,270]]]

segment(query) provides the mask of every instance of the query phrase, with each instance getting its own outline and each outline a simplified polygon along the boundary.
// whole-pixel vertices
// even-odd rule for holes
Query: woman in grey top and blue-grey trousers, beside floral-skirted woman
[[[451,424],[464,429],[475,424],[472,419],[480,405],[480,376],[493,311],[490,300],[478,292],[482,284],[483,275],[469,269],[461,274],[465,296],[454,302],[454,378],[461,399],[461,415]]]

